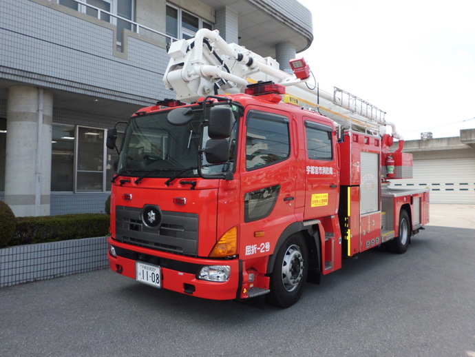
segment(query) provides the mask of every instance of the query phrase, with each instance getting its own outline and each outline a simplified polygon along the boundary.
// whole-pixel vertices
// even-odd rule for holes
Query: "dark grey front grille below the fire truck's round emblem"
[[[117,241],[178,254],[198,254],[198,214],[162,211],[160,225],[153,228],[143,223],[141,212],[141,208],[116,207]]]

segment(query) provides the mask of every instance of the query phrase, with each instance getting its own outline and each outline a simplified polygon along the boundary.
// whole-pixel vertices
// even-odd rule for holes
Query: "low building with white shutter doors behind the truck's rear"
[[[404,151],[412,153],[413,178],[394,180],[394,187],[428,187],[431,203],[475,204],[475,129],[406,141]]]

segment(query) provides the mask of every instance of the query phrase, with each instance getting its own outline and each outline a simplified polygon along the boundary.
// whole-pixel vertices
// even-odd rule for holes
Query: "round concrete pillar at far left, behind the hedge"
[[[53,94],[8,88],[5,202],[17,217],[50,214]]]

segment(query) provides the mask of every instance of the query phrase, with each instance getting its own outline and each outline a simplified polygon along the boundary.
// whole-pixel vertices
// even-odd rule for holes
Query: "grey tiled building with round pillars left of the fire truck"
[[[283,70],[313,41],[296,0],[1,0],[0,199],[17,216],[103,212],[106,129],[172,98],[167,43],[218,29]]]

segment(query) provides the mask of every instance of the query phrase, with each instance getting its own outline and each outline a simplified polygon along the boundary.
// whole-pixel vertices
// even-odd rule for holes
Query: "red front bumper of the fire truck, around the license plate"
[[[238,259],[215,260],[178,256],[154,249],[128,245],[109,237],[109,244],[116,249],[117,256],[110,254],[109,267],[123,276],[136,278],[136,261],[143,261],[161,267],[162,288],[213,300],[233,300],[239,298],[242,285],[242,264]],[[133,250],[131,249],[133,248]],[[203,281],[196,276],[205,265],[229,265],[231,274],[226,282]]]

